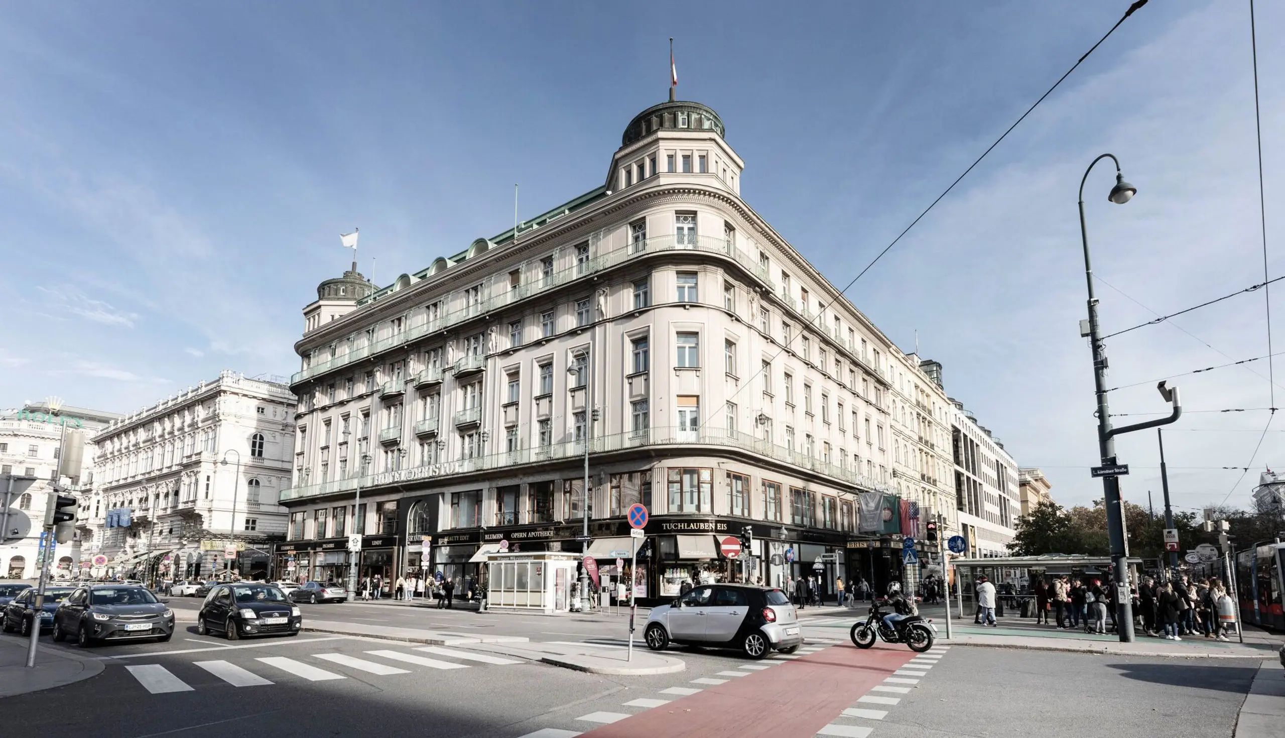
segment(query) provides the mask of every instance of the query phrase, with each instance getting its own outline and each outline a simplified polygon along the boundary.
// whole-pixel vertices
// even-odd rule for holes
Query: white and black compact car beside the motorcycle
[[[798,613],[779,589],[702,585],[671,604],[651,608],[642,629],[648,648],[669,643],[739,648],[750,658],[772,649],[793,653],[803,644]]]

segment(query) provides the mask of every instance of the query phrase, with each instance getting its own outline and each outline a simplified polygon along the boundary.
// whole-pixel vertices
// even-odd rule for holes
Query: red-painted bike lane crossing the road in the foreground
[[[901,644],[831,645],[653,707],[585,735],[806,737],[916,656]],[[763,662],[758,662],[763,663]]]

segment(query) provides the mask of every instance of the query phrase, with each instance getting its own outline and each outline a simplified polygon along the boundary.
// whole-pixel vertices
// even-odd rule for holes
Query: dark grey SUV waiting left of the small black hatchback
[[[82,586],[54,612],[54,640],[72,636],[87,648],[104,640],[154,638],[161,643],[173,635],[173,611],[152,590],[123,584]]]

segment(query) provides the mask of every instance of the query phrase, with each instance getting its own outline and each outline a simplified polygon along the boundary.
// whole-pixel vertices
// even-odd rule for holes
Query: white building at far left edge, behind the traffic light
[[[35,579],[39,575],[40,534],[45,519],[45,503],[53,491],[51,482],[58,473],[58,455],[63,426],[81,431],[85,437],[78,483],[67,491],[81,499],[82,518],[94,487],[94,436],[108,423],[120,418],[114,413],[72,408],[53,402],[27,402],[19,410],[0,411],[0,509],[5,494],[12,495],[10,508],[31,521],[26,539],[0,545],[0,577]],[[35,481],[22,477],[36,477]],[[69,481],[69,480],[64,480]],[[12,486],[10,486],[12,485]],[[3,513],[0,513],[3,514]],[[50,572],[59,579],[78,573],[81,561],[81,531],[68,544],[54,548]]]

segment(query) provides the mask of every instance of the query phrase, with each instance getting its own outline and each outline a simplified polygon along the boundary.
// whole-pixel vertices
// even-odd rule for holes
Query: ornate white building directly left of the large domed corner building
[[[266,575],[285,534],[278,496],[290,477],[294,409],[289,387],[221,372],[104,428],[86,555],[107,563],[94,573],[208,577],[226,568],[231,544],[234,570]]]

